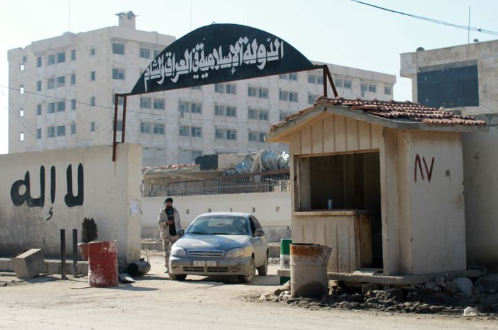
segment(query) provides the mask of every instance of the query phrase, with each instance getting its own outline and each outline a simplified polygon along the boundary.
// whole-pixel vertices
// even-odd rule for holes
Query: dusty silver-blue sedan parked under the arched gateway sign
[[[196,217],[172,246],[169,278],[187,275],[237,275],[250,283],[268,272],[268,241],[251,214],[213,212]]]

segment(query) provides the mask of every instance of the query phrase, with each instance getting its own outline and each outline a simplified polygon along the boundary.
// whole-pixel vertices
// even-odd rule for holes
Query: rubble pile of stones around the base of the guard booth
[[[374,309],[398,313],[442,313],[485,316],[498,320],[498,274],[475,279],[457,278],[424,284],[344,286],[331,282],[328,295],[321,299],[292,297],[289,282],[259,301],[281,302],[306,308]]]

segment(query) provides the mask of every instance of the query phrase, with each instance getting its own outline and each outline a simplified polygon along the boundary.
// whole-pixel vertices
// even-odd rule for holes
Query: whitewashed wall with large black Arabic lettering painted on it
[[[8,257],[27,248],[42,248],[46,257],[57,257],[59,230],[65,229],[69,256],[73,228],[78,230],[80,239],[83,219],[93,217],[98,226],[98,240],[116,239],[119,259],[138,261],[141,152],[140,145],[118,145],[116,163],[111,161],[109,146],[1,155],[0,255]],[[72,176],[66,172],[69,165]],[[45,174],[41,177],[42,166]],[[26,181],[15,187],[27,172],[31,198],[26,195]],[[72,182],[72,192],[67,182]],[[80,189],[82,196],[78,194]],[[41,201],[31,200],[43,192],[43,205]],[[68,199],[68,194],[82,199]]]

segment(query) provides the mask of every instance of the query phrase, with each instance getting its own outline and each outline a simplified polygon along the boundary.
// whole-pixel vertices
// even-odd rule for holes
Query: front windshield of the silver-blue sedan
[[[192,222],[186,235],[248,235],[246,219],[236,216],[206,216]]]

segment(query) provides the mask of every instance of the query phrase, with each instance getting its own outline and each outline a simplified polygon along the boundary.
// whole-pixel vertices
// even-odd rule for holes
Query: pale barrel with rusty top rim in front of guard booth
[[[321,297],[329,288],[326,268],[332,248],[321,244],[291,244],[291,295]]]

